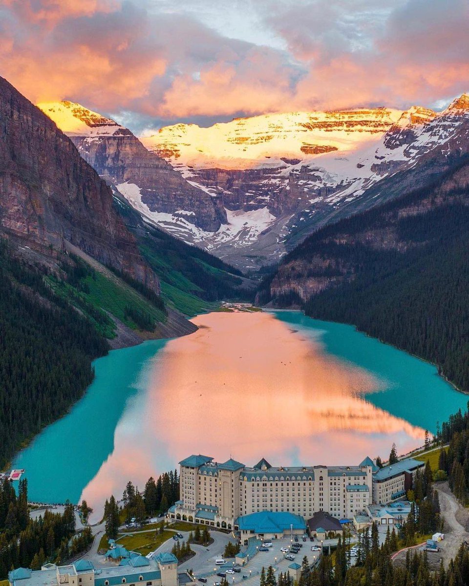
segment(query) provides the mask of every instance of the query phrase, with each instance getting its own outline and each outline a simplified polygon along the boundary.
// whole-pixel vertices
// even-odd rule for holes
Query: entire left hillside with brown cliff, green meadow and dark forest
[[[0,137],[2,467],[83,395],[93,359],[194,332],[186,315],[244,295],[246,280],[146,229],[54,122],[1,78]]]

